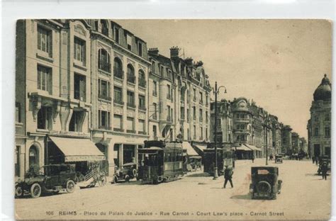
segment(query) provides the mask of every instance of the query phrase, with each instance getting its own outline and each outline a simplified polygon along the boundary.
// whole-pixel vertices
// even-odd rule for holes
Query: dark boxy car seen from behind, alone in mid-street
[[[252,199],[276,199],[281,191],[282,181],[278,179],[279,169],[275,166],[252,166],[250,193]]]

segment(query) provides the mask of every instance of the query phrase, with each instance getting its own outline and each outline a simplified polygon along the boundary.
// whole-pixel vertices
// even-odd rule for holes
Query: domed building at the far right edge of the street
[[[308,120],[308,144],[310,155],[331,156],[331,84],[327,75],[315,89]]]

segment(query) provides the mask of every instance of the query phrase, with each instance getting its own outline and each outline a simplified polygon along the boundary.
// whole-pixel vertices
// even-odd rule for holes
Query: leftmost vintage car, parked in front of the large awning
[[[40,197],[41,193],[58,193],[66,190],[73,193],[76,185],[76,172],[73,164],[50,164],[43,166],[36,174],[18,181],[15,186],[16,197],[26,192],[33,198]]]

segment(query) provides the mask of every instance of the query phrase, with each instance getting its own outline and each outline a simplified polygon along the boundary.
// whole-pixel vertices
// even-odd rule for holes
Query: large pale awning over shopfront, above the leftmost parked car
[[[65,154],[65,162],[100,161],[104,154],[89,139],[49,137]]]

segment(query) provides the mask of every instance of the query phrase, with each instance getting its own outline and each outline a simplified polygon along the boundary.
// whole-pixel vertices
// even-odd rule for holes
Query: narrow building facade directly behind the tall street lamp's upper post
[[[217,120],[217,130],[215,130],[215,119]],[[215,115],[215,103],[211,103],[211,127],[210,141],[219,143],[233,143],[233,113],[231,111],[231,102],[223,99],[217,102],[217,115]]]

